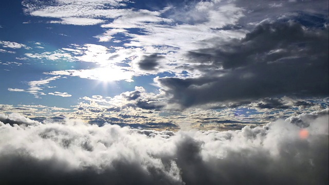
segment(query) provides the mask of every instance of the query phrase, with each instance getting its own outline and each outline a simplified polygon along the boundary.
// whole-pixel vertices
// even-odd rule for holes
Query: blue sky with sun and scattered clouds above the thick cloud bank
[[[4,1],[0,113],[238,129],[328,107],[327,1]]]

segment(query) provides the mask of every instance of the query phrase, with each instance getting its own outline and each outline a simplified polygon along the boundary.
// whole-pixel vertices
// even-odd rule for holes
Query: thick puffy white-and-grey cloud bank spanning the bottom
[[[304,138],[301,127],[283,120],[176,133],[78,120],[0,122],[0,182],[327,184],[328,115],[313,114]]]

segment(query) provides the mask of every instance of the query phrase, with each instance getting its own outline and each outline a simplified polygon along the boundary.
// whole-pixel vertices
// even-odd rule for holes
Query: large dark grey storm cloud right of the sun
[[[188,57],[207,75],[157,79],[172,96],[169,102],[182,108],[280,95],[328,95],[327,28],[263,24],[241,40],[193,50]]]

